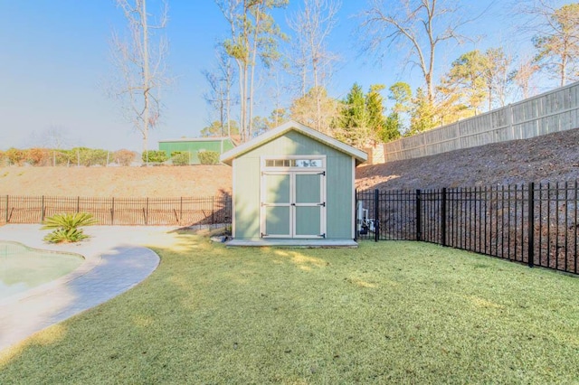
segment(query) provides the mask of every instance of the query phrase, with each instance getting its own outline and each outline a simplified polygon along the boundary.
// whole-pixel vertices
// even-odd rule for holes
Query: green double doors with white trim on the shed
[[[261,237],[326,238],[326,173],[264,172]]]

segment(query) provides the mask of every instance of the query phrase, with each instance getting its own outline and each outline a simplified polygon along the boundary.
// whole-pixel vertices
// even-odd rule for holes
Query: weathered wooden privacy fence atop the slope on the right
[[[477,117],[384,144],[384,161],[551,134],[579,127],[579,82]]]

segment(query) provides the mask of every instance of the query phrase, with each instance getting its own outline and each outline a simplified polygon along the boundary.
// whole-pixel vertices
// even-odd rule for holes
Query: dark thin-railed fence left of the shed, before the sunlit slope
[[[89,212],[100,225],[212,225],[232,222],[232,198],[0,196],[0,224],[41,223],[54,214],[73,212]]]

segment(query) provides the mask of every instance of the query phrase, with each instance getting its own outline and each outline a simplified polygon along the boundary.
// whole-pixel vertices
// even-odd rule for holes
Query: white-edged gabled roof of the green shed
[[[318,142],[320,142],[326,146],[335,148],[342,153],[353,156],[354,158],[356,158],[356,165],[364,163],[368,158],[368,155],[366,155],[364,151],[358,150],[357,148],[354,148],[352,146],[348,146],[345,143],[340,142],[339,140],[337,140],[331,136],[327,136],[325,134],[322,134],[321,132],[319,132],[313,128],[304,126],[304,125],[302,125],[294,120],[289,120],[289,122],[286,122],[286,123],[282,124],[281,126],[273,128],[270,131],[266,132],[265,134],[262,134],[261,136],[254,137],[249,142],[246,142],[246,143],[242,144],[241,146],[237,146],[237,147],[223,153],[220,156],[220,160],[224,164],[232,165],[233,159],[252,151],[254,148],[257,148],[257,147],[262,146],[268,142],[271,142],[272,140],[274,140],[280,136],[284,136],[289,131],[299,132],[299,134],[308,136],[308,137],[310,137],[314,140],[317,140]]]

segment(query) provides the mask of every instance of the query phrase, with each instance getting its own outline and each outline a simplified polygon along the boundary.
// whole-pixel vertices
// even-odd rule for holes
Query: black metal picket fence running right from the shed
[[[579,274],[576,181],[361,191],[356,199],[371,223],[358,239],[422,240]]]

